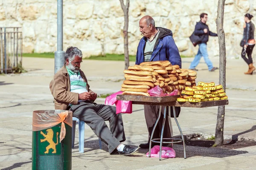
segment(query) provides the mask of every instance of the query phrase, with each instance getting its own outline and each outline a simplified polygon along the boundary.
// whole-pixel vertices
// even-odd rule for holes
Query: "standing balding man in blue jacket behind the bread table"
[[[140,32],[143,38],[140,40],[136,64],[147,61],[165,61],[169,60],[172,65],[179,65],[181,68],[181,58],[179,50],[172,38],[172,31],[166,28],[155,27],[154,19],[150,16],[144,16],[140,19]],[[144,105],[145,120],[148,127],[148,143],[140,144],[141,148],[149,148],[149,140],[151,132],[157,121],[160,106]],[[176,115],[180,113],[180,107],[175,108]],[[172,111],[171,111],[172,112]],[[164,108],[161,110],[161,118],[154,131],[153,139],[160,138],[161,128],[163,124]],[[172,113],[173,114],[173,113]],[[171,133],[169,129],[169,122],[166,121],[163,138],[170,138]],[[155,143],[152,143],[152,147]]]

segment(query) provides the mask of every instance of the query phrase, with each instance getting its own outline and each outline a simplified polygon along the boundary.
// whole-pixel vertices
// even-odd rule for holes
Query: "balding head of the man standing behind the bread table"
[[[146,15],[140,19],[140,32],[144,37],[151,37],[152,35],[157,33],[157,29],[155,27],[154,19],[149,15]]]

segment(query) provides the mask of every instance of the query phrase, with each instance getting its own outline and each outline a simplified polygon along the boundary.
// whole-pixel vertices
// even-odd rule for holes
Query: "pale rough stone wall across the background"
[[[253,3],[254,1],[254,3]],[[156,26],[173,31],[180,54],[193,56],[198,47],[189,40],[200,20],[208,14],[210,31],[216,31],[218,0],[130,0],[129,53],[136,54],[142,37],[139,20],[151,15]],[[64,0],[64,50],[79,47],[84,56],[123,54],[123,11],[119,0]],[[239,57],[244,14],[256,16],[255,0],[226,0],[224,31],[227,57]],[[256,17],[253,18],[256,21]],[[0,0],[0,26],[20,26],[23,52],[54,52],[57,46],[57,2],[53,0]],[[256,23],[256,22],[254,22]],[[254,50],[256,51],[256,50]],[[209,56],[218,56],[218,37],[210,37]],[[254,52],[254,54],[256,54]]]

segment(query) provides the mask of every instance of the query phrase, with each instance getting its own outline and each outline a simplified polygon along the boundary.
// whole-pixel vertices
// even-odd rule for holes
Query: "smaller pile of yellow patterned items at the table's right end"
[[[215,85],[214,82],[198,82],[198,86],[186,87],[181,92],[178,102],[207,102],[212,100],[226,100],[228,97],[222,85]]]

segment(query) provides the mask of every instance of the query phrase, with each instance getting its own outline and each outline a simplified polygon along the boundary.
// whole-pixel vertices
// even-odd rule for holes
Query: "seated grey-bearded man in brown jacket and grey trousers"
[[[106,144],[109,153],[115,150],[120,155],[130,155],[138,150],[121,144],[125,141],[122,115],[116,108],[94,103],[97,94],[90,90],[84,72],[80,70],[82,52],[69,47],[65,53],[65,65],[54,75],[50,90],[54,97],[55,109],[73,111],[73,116],[84,121]],[[110,129],[105,121],[109,121]]]

